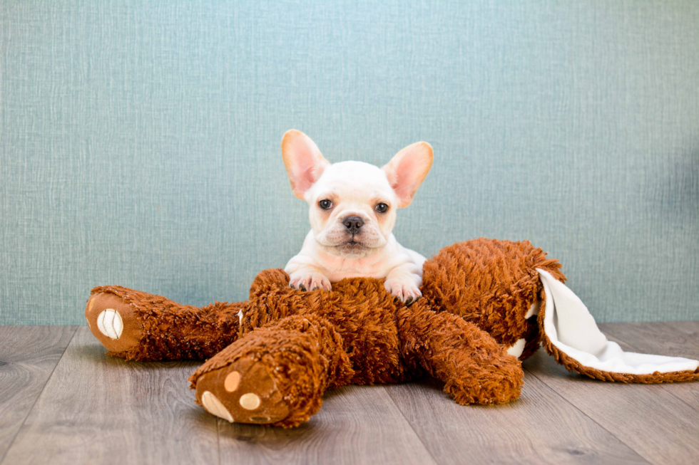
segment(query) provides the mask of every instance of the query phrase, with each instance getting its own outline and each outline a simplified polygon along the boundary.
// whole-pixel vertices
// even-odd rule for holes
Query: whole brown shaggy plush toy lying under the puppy
[[[583,375],[620,382],[697,380],[699,362],[623,352],[528,241],[475,239],[424,263],[423,297],[404,305],[373,278],[332,291],[290,288],[262,271],[250,299],[203,308],[120,286],[94,288],[85,315],[109,355],[208,359],[190,377],[198,403],[229,422],[295,427],[326,390],[431,375],[459,404],[519,397],[520,360],[540,344]]]

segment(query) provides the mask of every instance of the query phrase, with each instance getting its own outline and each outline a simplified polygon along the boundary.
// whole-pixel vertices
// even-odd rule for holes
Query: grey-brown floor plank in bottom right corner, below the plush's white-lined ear
[[[658,328],[662,325],[647,324],[657,324]],[[601,325],[601,328],[608,329],[608,325]],[[616,338],[610,334],[609,339]],[[660,341],[663,336],[655,331],[649,340]],[[634,350],[622,340],[617,342],[624,350]],[[699,410],[673,395],[671,385],[625,385],[591,380],[566,371],[543,350],[527,360],[526,367],[534,377],[651,463],[696,463]]]

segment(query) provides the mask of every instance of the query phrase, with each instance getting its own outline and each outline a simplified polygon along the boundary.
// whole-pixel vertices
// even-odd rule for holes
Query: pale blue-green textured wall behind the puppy
[[[406,246],[530,239],[599,321],[699,319],[699,2],[374,3],[0,2],[0,323],[245,298],[308,229],[292,127],[433,145]]]

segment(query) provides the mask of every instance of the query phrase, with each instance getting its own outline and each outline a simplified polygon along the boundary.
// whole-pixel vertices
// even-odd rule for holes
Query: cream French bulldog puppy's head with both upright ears
[[[311,228],[326,251],[361,258],[386,245],[396,210],[407,207],[432,166],[432,147],[416,142],[384,167],[330,164],[297,130],[282,139],[282,157],[295,196],[310,205]]]

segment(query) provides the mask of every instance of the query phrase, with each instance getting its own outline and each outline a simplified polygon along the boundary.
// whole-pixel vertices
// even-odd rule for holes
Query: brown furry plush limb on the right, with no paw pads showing
[[[503,404],[519,397],[521,362],[484,330],[418,301],[398,313],[404,357],[444,381],[459,404]]]

